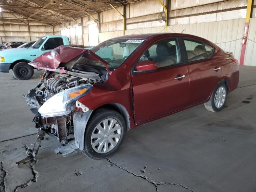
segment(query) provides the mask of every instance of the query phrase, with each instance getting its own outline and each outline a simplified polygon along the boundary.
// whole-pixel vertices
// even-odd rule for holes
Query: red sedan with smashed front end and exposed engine
[[[105,158],[137,126],[203,103],[222,110],[239,81],[230,52],[188,34],[134,34],[91,50],[59,46],[30,65],[45,72],[24,96],[38,136],[23,163],[36,156],[44,134],[57,138],[65,154],[77,148]]]

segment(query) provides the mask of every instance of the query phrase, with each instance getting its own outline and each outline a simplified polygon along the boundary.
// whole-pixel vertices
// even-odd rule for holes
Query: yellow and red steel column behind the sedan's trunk
[[[241,56],[240,56],[240,62],[239,62],[240,65],[244,65],[244,55],[245,55],[247,38],[248,38],[251,14],[252,14],[252,0],[248,0],[247,1],[246,18],[245,18],[245,24],[244,24],[244,37],[242,39],[242,49],[241,49]]]

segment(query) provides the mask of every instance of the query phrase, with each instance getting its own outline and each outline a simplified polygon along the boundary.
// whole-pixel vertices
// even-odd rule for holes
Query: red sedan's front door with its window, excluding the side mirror
[[[158,63],[154,72],[134,72],[132,86],[136,124],[185,108],[188,102],[188,68],[182,64],[178,40],[154,43],[137,62]]]

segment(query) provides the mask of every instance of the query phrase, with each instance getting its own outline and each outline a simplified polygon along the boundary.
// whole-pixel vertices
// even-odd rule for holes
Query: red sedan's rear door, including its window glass
[[[212,58],[214,47],[202,41],[184,39],[190,78],[190,105],[208,100],[221,76],[221,65]]]

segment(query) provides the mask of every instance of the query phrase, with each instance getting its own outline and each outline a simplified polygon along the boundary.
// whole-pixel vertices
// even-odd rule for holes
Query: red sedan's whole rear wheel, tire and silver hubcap
[[[218,112],[222,110],[227,100],[227,94],[228,88],[226,84],[224,82],[219,82],[214,88],[208,102],[204,103],[205,108],[211,112]]]

